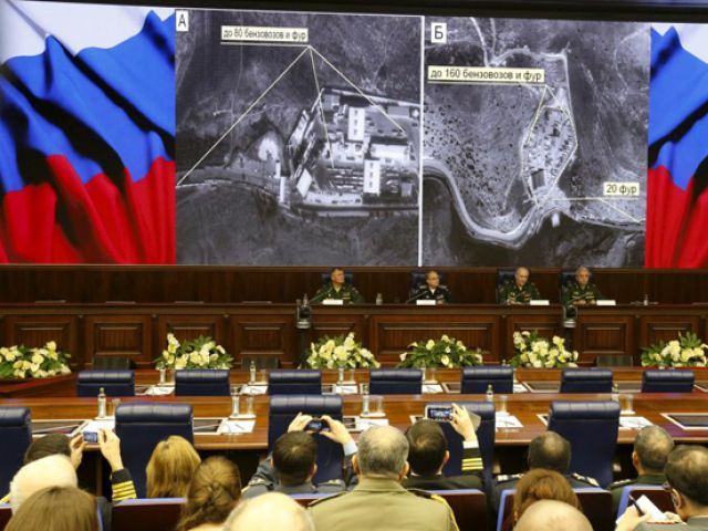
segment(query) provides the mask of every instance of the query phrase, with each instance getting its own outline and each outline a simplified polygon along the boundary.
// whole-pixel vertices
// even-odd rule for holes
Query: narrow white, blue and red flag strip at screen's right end
[[[645,264],[708,266],[708,25],[653,24]]]

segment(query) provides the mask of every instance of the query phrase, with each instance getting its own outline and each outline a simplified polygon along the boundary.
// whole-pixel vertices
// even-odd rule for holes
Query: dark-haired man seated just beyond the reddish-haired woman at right
[[[571,444],[555,431],[546,431],[531,440],[529,444],[529,469],[545,468],[562,473],[574,489],[582,487],[600,487],[593,478],[580,473],[569,473],[571,466]],[[497,476],[497,481],[491,489],[491,507],[499,511],[501,492],[513,490],[522,473],[511,476]]]

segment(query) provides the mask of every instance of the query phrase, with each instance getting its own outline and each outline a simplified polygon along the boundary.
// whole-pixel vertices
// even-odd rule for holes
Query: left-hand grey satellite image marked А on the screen
[[[420,19],[187,13],[177,262],[415,264]]]

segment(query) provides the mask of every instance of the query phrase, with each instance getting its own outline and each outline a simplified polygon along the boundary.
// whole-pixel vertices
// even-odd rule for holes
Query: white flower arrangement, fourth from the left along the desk
[[[400,354],[398,367],[461,367],[481,365],[482,351],[468,350],[465,343],[442,335],[439,340],[413,342],[408,351]]]

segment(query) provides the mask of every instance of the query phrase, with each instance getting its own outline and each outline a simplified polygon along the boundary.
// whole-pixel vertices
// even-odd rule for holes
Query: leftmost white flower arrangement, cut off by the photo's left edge
[[[71,373],[71,354],[56,350],[48,342],[41,348],[13,345],[0,348],[0,378],[49,378]]]

